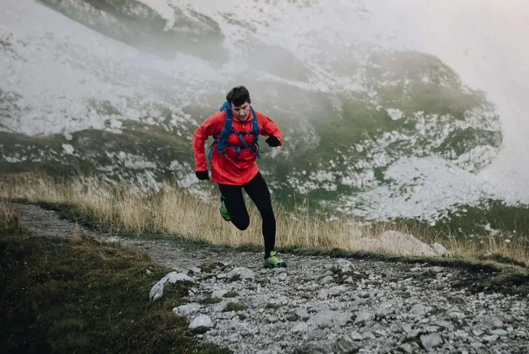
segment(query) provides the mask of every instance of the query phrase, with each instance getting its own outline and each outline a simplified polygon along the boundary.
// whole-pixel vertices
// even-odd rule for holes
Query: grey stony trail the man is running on
[[[35,235],[94,233],[39,206],[17,208]],[[175,269],[145,301],[158,301],[166,281],[194,282],[188,303],[173,311],[189,319],[199,338],[234,352],[529,352],[527,298],[469,291],[485,274],[288,253],[282,255],[288,268],[270,270],[262,268],[261,253],[119,241]]]

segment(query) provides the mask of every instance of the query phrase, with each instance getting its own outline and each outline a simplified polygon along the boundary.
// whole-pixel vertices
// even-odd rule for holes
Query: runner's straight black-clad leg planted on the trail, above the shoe
[[[263,238],[265,238],[265,258],[268,258],[276,244],[276,217],[273,215],[270,190],[260,172],[244,185],[244,190],[261,214]]]

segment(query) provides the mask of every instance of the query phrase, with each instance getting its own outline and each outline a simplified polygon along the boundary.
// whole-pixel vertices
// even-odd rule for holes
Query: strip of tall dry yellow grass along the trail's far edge
[[[212,198],[214,202],[204,202],[175,185],[167,184],[159,192],[136,193],[133,185],[95,177],[58,181],[47,175],[19,174],[3,178],[0,198],[65,204],[76,214],[106,225],[112,232],[161,233],[167,237],[214,244],[262,244],[261,219],[253,203],[247,203],[250,226],[241,232],[220,217],[216,197]],[[354,217],[335,212],[331,221],[331,213],[317,213],[307,204],[292,211],[276,203],[274,210],[278,225],[276,244],[282,247],[340,248],[420,256],[406,245],[381,238],[385,231],[398,230],[427,243],[441,242],[457,256],[483,258],[499,255],[529,265],[529,247],[523,237],[511,239],[511,242],[491,237],[488,243],[478,243],[436,235],[432,230],[419,229],[418,226],[409,229],[404,224],[363,227]]]

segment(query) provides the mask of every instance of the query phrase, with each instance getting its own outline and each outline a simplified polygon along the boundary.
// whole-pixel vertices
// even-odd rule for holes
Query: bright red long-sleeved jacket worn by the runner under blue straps
[[[257,123],[259,124],[259,134],[269,136],[275,135],[279,138],[279,145],[282,144],[281,131],[277,128],[276,123],[261,112],[257,112]],[[236,131],[251,132],[253,115],[244,122],[241,122],[235,114],[233,115],[232,128]],[[210,135],[219,135],[224,128],[226,121],[226,112],[217,112],[210,116],[202,123],[193,135],[193,150],[195,151],[195,170],[207,170],[206,158],[204,156],[204,143]],[[244,140],[250,146],[253,143],[253,135],[243,135]],[[244,147],[238,135],[230,134],[228,144]],[[239,157],[235,149],[227,147],[226,153],[221,154],[217,150],[216,144],[213,148],[211,157],[211,179],[220,184],[243,185],[247,184],[257,175],[259,169],[256,164],[257,152],[251,152],[249,149],[241,149]]]

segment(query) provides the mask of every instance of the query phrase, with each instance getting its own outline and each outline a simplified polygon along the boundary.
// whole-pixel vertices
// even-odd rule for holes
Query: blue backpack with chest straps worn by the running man
[[[256,111],[253,110],[252,106],[250,106],[250,109],[252,110],[252,128],[253,130],[251,132],[240,132],[233,130],[232,128],[232,121],[233,121],[233,114],[231,110],[231,106],[229,103],[224,102],[224,104],[221,107],[221,112],[226,111],[226,121],[224,122],[224,129],[222,129],[220,135],[213,134],[213,143],[211,146],[209,146],[209,162],[211,162],[211,156],[213,155],[213,148],[216,145],[217,150],[220,153],[226,153],[226,148],[230,147],[235,149],[237,151],[237,157],[239,157],[239,153],[241,152],[241,149],[249,149],[251,152],[257,152],[257,158],[260,159],[261,155],[259,153],[259,144],[257,143],[257,140],[259,139],[259,124],[257,123],[257,114]],[[241,139],[244,148],[240,146],[230,145],[228,143],[228,137],[230,134],[236,134],[239,135],[239,138]],[[253,134],[253,142],[248,145],[246,140],[244,140],[243,135]]]

